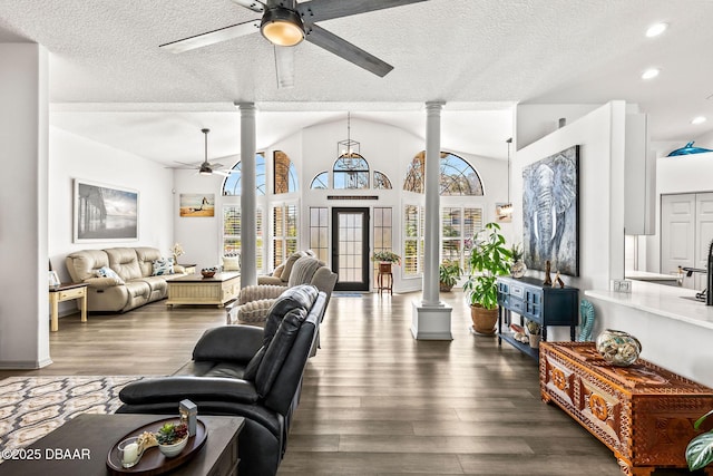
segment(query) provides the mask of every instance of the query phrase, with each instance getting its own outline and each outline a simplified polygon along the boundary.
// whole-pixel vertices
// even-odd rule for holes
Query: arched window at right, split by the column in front
[[[407,171],[404,191],[423,193],[424,165],[426,152],[420,152]],[[476,169],[455,154],[441,152],[439,183],[441,195],[482,195],[482,182]]]

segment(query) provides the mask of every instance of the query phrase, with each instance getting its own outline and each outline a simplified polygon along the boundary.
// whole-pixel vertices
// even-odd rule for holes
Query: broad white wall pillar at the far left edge
[[[49,356],[48,54],[0,43],[0,368],[35,369]],[[69,186],[67,184],[66,186]],[[67,204],[69,206],[69,204]]]

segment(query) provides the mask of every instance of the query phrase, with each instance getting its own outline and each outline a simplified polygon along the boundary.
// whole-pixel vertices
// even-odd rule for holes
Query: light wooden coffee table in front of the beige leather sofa
[[[169,308],[174,304],[215,304],[222,308],[241,293],[241,273],[223,272],[213,278],[201,274],[176,278],[167,281]]]

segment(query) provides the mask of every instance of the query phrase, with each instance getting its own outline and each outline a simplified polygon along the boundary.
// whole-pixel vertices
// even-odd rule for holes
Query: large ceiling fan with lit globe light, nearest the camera
[[[164,43],[159,48],[179,54],[261,31],[274,45],[277,86],[281,88],[294,86],[294,50],[291,47],[302,40],[384,77],[393,66],[319,27],[316,22],[426,0],[310,0],[301,3],[296,0],[233,0],[262,13],[262,18]]]

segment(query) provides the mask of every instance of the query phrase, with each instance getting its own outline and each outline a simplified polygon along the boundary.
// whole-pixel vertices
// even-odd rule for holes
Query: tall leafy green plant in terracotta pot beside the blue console
[[[498,320],[497,278],[510,272],[511,251],[500,234],[500,225],[487,223],[473,237],[468,259],[470,275],[463,284],[470,303],[473,331],[494,336]]]

